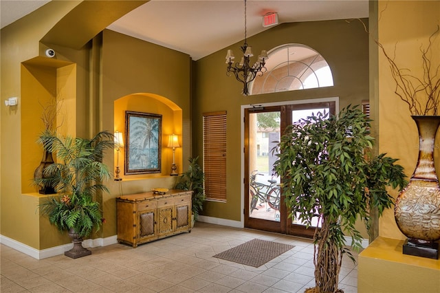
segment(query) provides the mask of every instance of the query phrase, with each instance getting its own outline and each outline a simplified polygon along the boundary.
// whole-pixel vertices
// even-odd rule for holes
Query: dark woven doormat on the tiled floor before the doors
[[[214,257],[258,268],[292,248],[294,246],[289,244],[253,239],[230,250],[215,254]]]

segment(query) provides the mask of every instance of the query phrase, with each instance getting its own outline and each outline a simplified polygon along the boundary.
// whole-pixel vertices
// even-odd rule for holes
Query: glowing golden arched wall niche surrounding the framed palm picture
[[[120,150],[119,163],[115,151],[114,164],[120,166],[120,177],[122,180],[140,180],[162,176],[169,176],[171,164],[173,164],[173,150],[168,148],[168,136],[175,133],[179,136],[180,148],[175,149],[175,162],[177,173],[182,173],[182,109],[164,96],[149,93],[137,93],[123,96],[114,101],[114,131],[122,132],[124,144],[126,143],[126,121],[125,112],[136,111],[142,113],[153,113],[162,115],[162,163],[160,173],[125,175],[125,146]]]

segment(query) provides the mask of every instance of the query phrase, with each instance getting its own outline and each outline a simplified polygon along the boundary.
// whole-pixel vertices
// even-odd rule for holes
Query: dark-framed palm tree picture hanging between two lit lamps
[[[162,115],[125,111],[125,175],[160,173]]]

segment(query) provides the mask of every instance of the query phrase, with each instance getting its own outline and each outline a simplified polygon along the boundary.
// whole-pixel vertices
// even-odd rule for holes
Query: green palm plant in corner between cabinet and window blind
[[[178,177],[175,186],[176,189],[192,191],[192,215],[194,215],[194,220],[197,220],[197,217],[199,217],[199,213],[203,210],[203,202],[206,199],[205,191],[203,190],[205,174],[197,160],[199,160],[199,157],[188,159],[190,162],[188,171]]]

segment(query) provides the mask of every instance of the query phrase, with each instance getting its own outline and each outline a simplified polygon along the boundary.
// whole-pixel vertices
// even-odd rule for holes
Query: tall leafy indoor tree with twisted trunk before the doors
[[[337,116],[312,114],[289,125],[273,150],[278,159],[274,171],[282,178],[289,217],[311,226],[314,234],[316,286],[306,292],[343,292],[338,289],[343,254],[354,260],[351,247],[362,248],[355,222],[370,226],[370,210],[382,215],[393,204],[387,187],[406,185],[403,168],[385,154],[373,156],[370,120],[358,109],[347,107]]]

